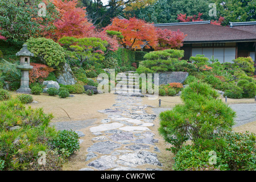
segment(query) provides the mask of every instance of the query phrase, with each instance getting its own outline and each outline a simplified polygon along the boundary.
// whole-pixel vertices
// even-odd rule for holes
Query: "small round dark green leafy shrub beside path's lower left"
[[[80,149],[79,136],[72,130],[60,130],[52,144],[57,148],[59,154],[65,157],[69,157]]]

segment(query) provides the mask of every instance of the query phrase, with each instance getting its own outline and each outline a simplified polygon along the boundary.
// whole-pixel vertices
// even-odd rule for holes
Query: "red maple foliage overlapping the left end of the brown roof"
[[[183,32],[171,31],[167,29],[156,28],[158,34],[158,47],[157,50],[180,48],[183,46],[185,36]]]

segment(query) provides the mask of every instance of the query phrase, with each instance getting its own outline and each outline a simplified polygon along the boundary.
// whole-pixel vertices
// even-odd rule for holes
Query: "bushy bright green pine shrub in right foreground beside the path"
[[[184,104],[160,113],[159,132],[173,145],[172,152],[188,139],[200,145],[200,139],[211,140],[214,133],[232,130],[236,113],[217,97],[210,85],[192,82],[181,93]]]

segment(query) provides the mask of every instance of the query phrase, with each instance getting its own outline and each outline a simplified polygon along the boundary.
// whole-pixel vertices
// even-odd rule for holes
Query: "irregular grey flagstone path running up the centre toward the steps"
[[[115,104],[105,110],[101,125],[90,127],[94,144],[87,148],[86,166],[80,171],[162,170],[158,160],[155,114],[147,114],[141,97],[117,95]],[[146,164],[146,167],[145,167]]]

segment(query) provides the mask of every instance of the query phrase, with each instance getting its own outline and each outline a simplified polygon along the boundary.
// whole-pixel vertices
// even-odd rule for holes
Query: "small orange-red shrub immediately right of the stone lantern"
[[[49,73],[53,72],[55,69],[47,67],[44,64],[30,63],[33,68],[29,72],[30,83],[38,81],[43,82],[43,79],[48,77]]]

